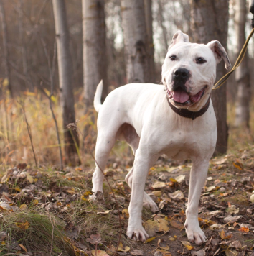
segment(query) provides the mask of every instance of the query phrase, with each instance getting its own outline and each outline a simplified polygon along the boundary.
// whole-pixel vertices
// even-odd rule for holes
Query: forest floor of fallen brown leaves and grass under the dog
[[[105,175],[113,192],[105,182],[105,200],[95,202],[89,198],[91,168],[60,171],[20,163],[2,173],[0,255],[106,256],[115,253],[119,239],[115,255],[254,255],[254,146],[210,160],[199,204],[207,236],[201,245],[190,244],[183,227],[188,161],[158,160],[149,171],[146,192],[160,212],[143,211],[151,237],[145,243],[126,238],[131,191],[124,178],[130,167],[110,161]]]

